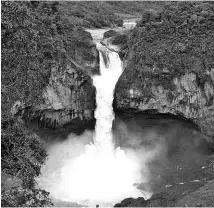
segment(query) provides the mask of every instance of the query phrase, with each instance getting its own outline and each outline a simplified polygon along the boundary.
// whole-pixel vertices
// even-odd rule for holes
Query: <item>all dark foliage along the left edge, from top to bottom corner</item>
[[[57,31],[57,2],[2,4],[2,173],[18,185],[2,183],[2,206],[47,206],[48,193],[35,188],[46,151],[41,139],[24,129],[11,114],[19,100],[25,106],[41,102],[51,67],[64,54]]]

